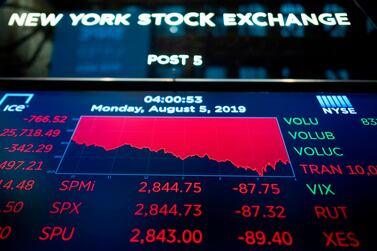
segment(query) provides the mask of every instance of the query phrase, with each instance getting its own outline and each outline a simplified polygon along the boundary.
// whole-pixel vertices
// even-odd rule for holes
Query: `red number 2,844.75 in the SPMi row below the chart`
[[[201,193],[201,182],[146,182],[139,183],[139,193]]]

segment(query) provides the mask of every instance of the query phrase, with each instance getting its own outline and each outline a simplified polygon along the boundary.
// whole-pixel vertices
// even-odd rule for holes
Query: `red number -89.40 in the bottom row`
[[[243,236],[238,237],[238,240],[244,241],[247,245],[279,245],[279,246],[292,246],[293,237],[290,232],[275,232],[271,237],[261,230],[252,231],[248,230]]]

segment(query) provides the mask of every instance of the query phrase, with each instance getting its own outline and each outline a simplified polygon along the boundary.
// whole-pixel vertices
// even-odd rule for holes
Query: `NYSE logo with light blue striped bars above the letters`
[[[357,114],[347,96],[318,95],[324,114]]]

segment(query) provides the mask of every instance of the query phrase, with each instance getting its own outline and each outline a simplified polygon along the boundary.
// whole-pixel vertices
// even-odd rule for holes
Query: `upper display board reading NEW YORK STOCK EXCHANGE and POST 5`
[[[0,4],[0,76],[377,79],[376,3]]]

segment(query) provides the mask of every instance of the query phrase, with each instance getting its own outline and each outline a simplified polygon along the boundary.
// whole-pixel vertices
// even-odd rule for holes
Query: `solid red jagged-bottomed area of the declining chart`
[[[275,118],[84,116],[72,141],[106,151],[130,146],[181,160],[196,156],[229,161],[260,176],[268,166],[289,163]]]

